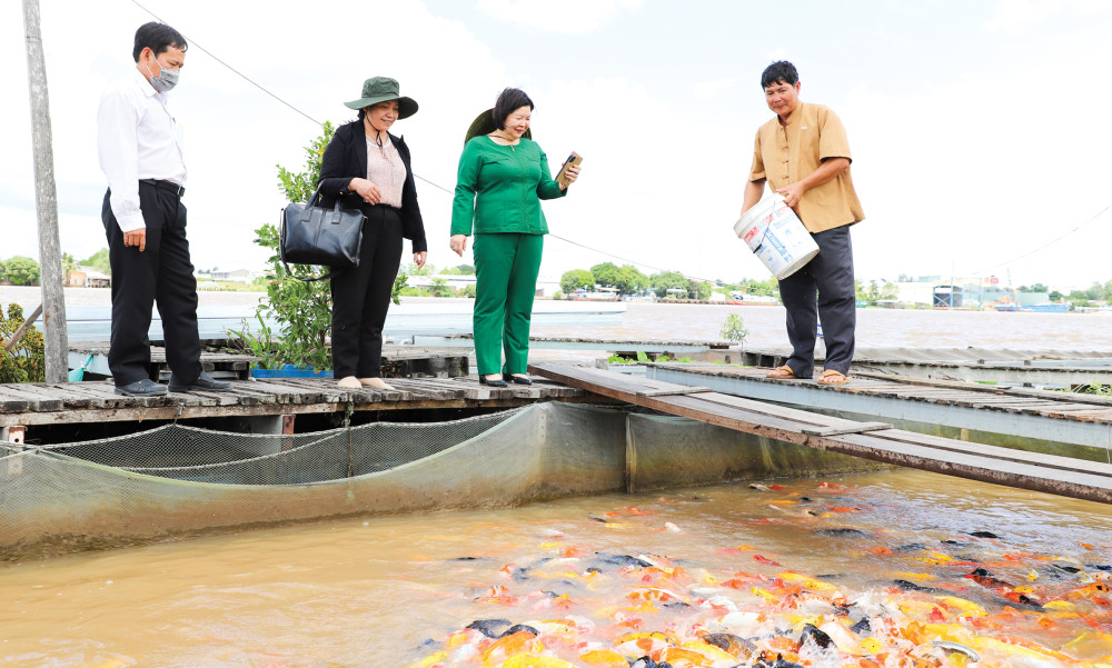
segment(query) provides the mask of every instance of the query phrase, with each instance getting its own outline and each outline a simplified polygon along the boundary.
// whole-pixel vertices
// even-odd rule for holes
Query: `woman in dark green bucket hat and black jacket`
[[[394,389],[381,379],[383,326],[401,262],[401,239],[413,241],[414,262],[425,265],[428,245],[417,206],[409,148],[390,133],[394,122],[417,113],[398,82],[371,77],[358,100],[356,120],[340,126],[320,163],[320,199],[364,213],[359,266],[331,279],[332,375],[345,389]]]

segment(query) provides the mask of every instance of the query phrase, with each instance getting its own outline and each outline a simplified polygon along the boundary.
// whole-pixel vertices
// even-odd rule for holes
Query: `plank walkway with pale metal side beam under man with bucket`
[[[668,382],[705,385],[731,395],[781,403],[852,411],[883,419],[976,429],[1105,450],[1112,448],[1112,397],[852,373],[852,382],[776,380],[770,369],[727,365],[648,365],[646,373]]]

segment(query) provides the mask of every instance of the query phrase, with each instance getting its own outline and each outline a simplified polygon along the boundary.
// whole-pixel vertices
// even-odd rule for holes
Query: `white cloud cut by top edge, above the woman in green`
[[[642,0],[564,0],[558,4],[536,0],[478,0],[479,9],[492,18],[569,34],[593,32],[620,12],[635,10],[641,4]]]

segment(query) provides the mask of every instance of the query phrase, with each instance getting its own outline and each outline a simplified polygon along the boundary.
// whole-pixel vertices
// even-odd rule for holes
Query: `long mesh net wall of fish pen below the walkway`
[[[837,457],[763,441],[682,418],[549,402],[302,435],[170,425],[78,443],[0,442],[0,559],[329,517],[507,506],[627,485],[824,472]]]

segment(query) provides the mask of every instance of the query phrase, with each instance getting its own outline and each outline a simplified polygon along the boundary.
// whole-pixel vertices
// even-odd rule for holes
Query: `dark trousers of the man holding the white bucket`
[[[780,297],[787,309],[787,338],[792,342],[787,366],[797,378],[811,378],[814,373],[820,320],[826,342],[823,367],[847,373],[857,326],[850,226],[811,236],[818,245],[818,255],[780,281]]]

